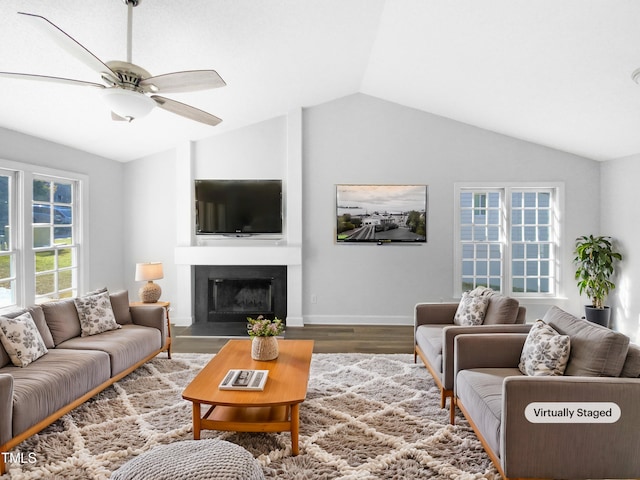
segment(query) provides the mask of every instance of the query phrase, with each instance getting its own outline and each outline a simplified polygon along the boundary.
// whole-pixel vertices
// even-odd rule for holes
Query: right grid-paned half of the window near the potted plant
[[[549,191],[513,191],[511,195],[512,291],[553,294],[554,251]]]

